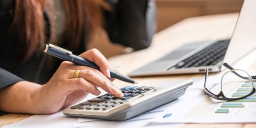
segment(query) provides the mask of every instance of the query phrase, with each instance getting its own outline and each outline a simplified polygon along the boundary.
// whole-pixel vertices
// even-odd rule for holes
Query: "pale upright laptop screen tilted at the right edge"
[[[256,49],[256,0],[244,0],[224,62],[232,65]],[[222,70],[223,70],[222,66]]]

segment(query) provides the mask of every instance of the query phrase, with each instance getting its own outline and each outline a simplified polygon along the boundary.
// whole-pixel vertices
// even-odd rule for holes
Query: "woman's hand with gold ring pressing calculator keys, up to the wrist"
[[[113,85],[112,81],[107,78],[110,77],[108,62],[99,51],[92,49],[79,56],[95,62],[99,66],[100,71],[64,61],[50,81],[40,91],[41,95],[44,95],[44,102],[52,104],[50,107],[43,107],[43,109],[47,107],[48,110],[52,109],[49,113],[83,100],[88,93],[99,95],[100,91],[97,87],[102,88],[115,97],[124,96]],[[80,70],[78,78],[74,77],[75,70]]]

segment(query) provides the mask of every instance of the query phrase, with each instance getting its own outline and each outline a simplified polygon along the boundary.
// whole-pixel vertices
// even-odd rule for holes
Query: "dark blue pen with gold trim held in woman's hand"
[[[94,62],[84,59],[82,57],[79,57],[77,55],[74,55],[74,54],[72,54],[71,51],[67,51],[58,46],[55,46],[52,44],[45,45],[43,51],[47,54],[58,57],[60,59],[70,61],[76,65],[88,66],[88,67],[99,70],[99,67]],[[109,71],[110,71],[110,77],[112,77],[112,78],[117,78],[119,80],[129,82],[129,83],[135,83],[134,80],[130,77],[126,77],[126,76],[119,74],[111,69],[109,69]]]

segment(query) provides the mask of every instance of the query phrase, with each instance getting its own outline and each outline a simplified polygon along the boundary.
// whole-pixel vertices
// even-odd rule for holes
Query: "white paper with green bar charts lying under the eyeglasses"
[[[209,75],[207,78],[209,88],[213,91],[220,89],[221,77],[222,74]],[[202,77],[199,81],[194,80],[193,86],[188,88],[185,97],[154,118],[152,122],[256,123],[256,94],[240,101],[217,101],[204,94],[202,79],[204,78]],[[230,90],[230,93],[237,93],[236,91]]]

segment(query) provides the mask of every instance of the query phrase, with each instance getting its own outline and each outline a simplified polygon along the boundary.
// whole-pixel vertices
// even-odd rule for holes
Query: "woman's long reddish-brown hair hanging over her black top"
[[[21,61],[25,62],[44,46],[46,40],[44,9],[47,3],[46,0],[15,1],[12,28],[17,37]],[[85,31],[86,36],[90,38],[103,23],[102,9],[110,9],[110,7],[103,0],[63,0],[63,3],[66,11],[65,39],[68,42],[66,47],[75,50],[81,42],[81,37],[84,36],[82,32]],[[53,39],[53,34],[50,34]]]

